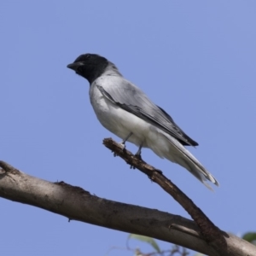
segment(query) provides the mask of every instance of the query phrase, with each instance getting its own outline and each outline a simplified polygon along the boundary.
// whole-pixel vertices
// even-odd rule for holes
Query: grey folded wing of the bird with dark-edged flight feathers
[[[172,117],[165,110],[151,102],[142,90],[129,81],[116,77],[111,78],[111,81],[110,79],[97,81],[96,86],[108,100],[157,126],[175,137],[179,143],[188,146],[198,145],[175,124]]]

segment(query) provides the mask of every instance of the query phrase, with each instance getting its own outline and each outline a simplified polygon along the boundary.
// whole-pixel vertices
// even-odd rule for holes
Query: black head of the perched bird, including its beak
[[[84,54],[73,61],[72,64],[67,65],[75,73],[87,79],[91,84],[98,77],[104,73],[106,67],[108,67],[108,60],[100,55],[95,54]]]

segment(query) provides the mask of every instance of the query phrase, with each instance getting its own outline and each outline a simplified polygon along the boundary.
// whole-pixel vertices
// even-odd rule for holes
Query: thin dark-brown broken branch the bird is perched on
[[[211,245],[219,255],[234,255],[230,254],[229,248],[227,246],[226,239],[229,235],[212,223],[212,221],[207,218],[207,215],[201,211],[195,203],[189,199],[187,195],[183,193],[182,190],[178,189],[177,186],[172,183],[164,174],[159,170],[154,168],[154,166],[148,165],[141,158],[138,159],[130,151],[123,148],[123,145],[116,143],[112,138],[106,138],[103,140],[103,144],[114,152],[114,155],[119,155],[123,160],[126,161],[132,167],[136,167],[139,171],[148,175],[148,177],[154,182],[158,183],[162,189],[164,189],[189,213],[191,218],[195,220],[195,223],[199,226],[201,230],[201,235],[204,237],[205,241]]]

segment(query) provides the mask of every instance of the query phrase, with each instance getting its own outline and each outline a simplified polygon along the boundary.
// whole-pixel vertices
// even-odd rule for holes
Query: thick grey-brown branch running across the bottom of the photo
[[[20,172],[0,161],[0,196],[55,212],[68,219],[96,224],[189,247],[217,256],[201,237],[197,225],[177,215],[108,201],[67,183],[50,183]],[[227,246],[233,255],[256,255],[253,245],[229,235]]]

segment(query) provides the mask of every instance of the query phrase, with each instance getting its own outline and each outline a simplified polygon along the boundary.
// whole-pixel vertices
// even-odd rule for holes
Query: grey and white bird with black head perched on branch
[[[121,144],[137,145],[135,154],[150,148],[162,159],[170,160],[191,172],[208,189],[208,181],[219,185],[217,179],[201,165],[184,146],[197,146],[174,122],[172,117],[152,102],[148,96],[125,79],[113,62],[97,54],[82,54],[67,65],[90,84],[90,103],[97,119],[122,139]]]

